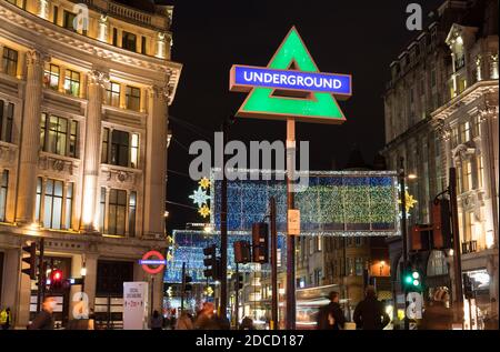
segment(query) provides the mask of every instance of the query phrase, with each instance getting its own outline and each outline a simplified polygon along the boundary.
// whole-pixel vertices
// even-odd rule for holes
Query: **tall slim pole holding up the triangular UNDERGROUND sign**
[[[289,211],[294,209],[293,171],[296,169],[296,120],[287,120],[287,220]],[[290,235],[288,223],[287,235],[287,330],[296,329],[296,238]]]

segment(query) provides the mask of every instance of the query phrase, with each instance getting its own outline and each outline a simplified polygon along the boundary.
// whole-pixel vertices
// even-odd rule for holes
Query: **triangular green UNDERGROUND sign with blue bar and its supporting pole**
[[[234,66],[229,88],[249,92],[237,117],[287,121],[287,208],[294,210],[293,169],[296,121],[341,124],[346,118],[337,103],[352,94],[348,74],[320,73],[293,27],[267,68]],[[291,222],[288,221],[290,224]],[[294,238],[287,238],[287,329],[296,328]]]

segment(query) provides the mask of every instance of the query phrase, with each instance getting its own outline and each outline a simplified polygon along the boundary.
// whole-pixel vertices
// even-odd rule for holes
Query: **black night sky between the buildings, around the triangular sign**
[[[353,145],[367,163],[383,148],[383,100],[389,64],[418,36],[406,28],[406,8],[419,2],[424,21],[441,3],[426,1],[298,1],[298,0],[171,0],[173,12],[172,60],[183,71],[170,114],[173,119],[169,149],[168,200],[191,204],[188,195],[197,182],[188,177],[191,160],[186,150],[192,141],[213,142],[213,131],[223,119],[234,115],[244,93],[229,92],[232,64],[268,64],[292,26],[296,26],[322,72],[351,73],[353,95],[339,102],[346,114],[343,125],[298,123],[297,140],[310,142],[310,169],[344,167]],[[204,137],[204,138],[203,138]],[[238,119],[230,139],[283,140],[286,123]],[[196,210],[168,204],[168,230],[183,229],[186,222],[203,222]]]

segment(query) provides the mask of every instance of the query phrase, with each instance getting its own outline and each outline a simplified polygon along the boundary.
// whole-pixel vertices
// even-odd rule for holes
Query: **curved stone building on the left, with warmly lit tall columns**
[[[86,273],[71,293],[96,313],[120,321],[123,281],[149,281],[159,309],[162,273],[137,260],[168,245],[172,7],[1,0],[0,17],[0,305],[26,326],[37,286],[21,247],[43,238],[49,268]],[[71,312],[71,295],[59,302]]]

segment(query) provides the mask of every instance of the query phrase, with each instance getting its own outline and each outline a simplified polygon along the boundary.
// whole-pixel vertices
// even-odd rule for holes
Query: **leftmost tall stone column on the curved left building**
[[[22,119],[21,157],[19,163],[18,207],[16,222],[34,221],[37,193],[37,164],[40,149],[40,105],[44,57],[37,50],[27,52],[27,82],[24,89],[24,117]]]

